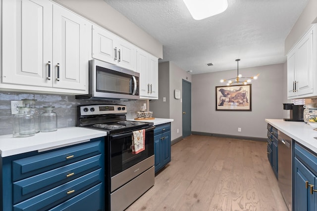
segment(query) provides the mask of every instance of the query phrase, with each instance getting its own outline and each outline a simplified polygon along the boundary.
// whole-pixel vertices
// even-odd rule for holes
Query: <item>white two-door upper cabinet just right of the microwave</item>
[[[138,49],[137,72],[140,73],[140,98],[159,99],[158,58],[144,50]]]

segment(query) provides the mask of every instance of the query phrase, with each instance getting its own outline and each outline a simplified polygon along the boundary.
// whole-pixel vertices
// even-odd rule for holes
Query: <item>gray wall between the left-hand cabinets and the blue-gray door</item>
[[[182,137],[182,100],[174,98],[174,90],[179,89],[182,96],[183,79],[191,82],[192,76],[173,62],[159,63],[159,99],[150,100],[150,110],[155,117],[174,119],[171,140]],[[166,102],[163,102],[163,97],[166,97]]]

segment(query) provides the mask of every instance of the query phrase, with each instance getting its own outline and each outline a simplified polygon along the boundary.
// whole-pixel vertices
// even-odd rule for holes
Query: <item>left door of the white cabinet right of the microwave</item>
[[[138,50],[137,52],[137,72],[140,73],[139,94],[147,97],[150,93],[149,54],[145,51]]]

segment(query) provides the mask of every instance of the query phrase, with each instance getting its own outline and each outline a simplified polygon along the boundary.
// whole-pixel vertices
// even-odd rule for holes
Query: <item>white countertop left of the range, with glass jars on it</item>
[[[26,138],[13,138],[12,134],[0,135],[0,155],[7,157],[32,151],[46,151],[92,138],[106,136],[107,132],[84,127],[63,127],[53,132],[39,132]]]

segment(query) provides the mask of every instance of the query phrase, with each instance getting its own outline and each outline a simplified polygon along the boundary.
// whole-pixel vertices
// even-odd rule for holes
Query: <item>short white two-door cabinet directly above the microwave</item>
[[[136,70],[136,47],[107,30],[93,25],[92,57],[120,67]]]

